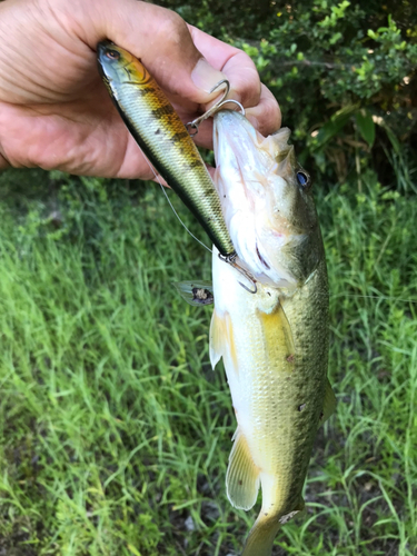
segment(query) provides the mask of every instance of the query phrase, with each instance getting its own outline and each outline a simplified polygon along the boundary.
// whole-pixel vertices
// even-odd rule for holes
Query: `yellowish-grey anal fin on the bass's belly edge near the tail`
[[[226,489],[235,508],[250,509],[258,497],[259,468],[254,464],[248,443],[239,430],[229,457],[226,475]]]

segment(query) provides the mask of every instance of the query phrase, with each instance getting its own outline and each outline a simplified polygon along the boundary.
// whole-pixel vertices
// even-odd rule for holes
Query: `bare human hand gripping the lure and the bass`
[[[0,2],[0,169],[41,167],[83,176],[153,177],[99,77],[103,39],[141,58],[182,121],[205,111],[225,77],[229,98],[264,135],[280,126],[250,58],[175,12],[137,0]],[[211,122],[196,142],[211,148]]]

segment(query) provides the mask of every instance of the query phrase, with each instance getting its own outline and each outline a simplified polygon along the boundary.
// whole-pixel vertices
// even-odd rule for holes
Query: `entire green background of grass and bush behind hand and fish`
[[[415,556],[416,10],[163,4],[254,58],[316,177],[338,408],[274,556]],[[210,309],[171,287],[208,254],[152,183],[10,170],[0,216],[0,555],[239,554]]]

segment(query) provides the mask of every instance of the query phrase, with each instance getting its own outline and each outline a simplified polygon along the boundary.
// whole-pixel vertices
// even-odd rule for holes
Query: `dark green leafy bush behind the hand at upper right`
[[[254,59],[280,102],[301,162],[319,177],[342,180],[373,166],[390,186],[393,157],[397,162],[410,158],[407,166],[416,166],[417,12],[411,2],[158,3]]]

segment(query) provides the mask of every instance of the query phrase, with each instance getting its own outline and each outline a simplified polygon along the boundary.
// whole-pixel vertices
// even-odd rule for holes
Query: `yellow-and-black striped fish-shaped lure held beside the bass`
[[[107,90],[153,168],[180,197],[226,258],[235,256],[219,196],[187,128],[145,66],[123,48],[97,44]]]

